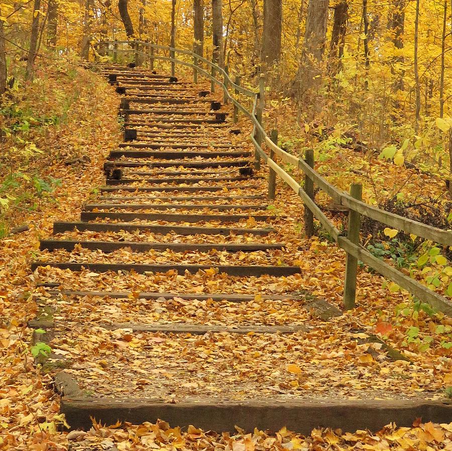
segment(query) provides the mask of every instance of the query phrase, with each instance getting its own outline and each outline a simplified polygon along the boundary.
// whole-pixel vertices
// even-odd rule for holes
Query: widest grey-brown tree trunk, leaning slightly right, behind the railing
[[[326,44],[328,0],[309,0],[301,61],[294,80],[299,95],[322,82],[320,63]]]

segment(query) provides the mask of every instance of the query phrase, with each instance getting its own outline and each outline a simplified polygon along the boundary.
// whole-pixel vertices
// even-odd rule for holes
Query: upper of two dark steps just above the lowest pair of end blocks
[[[222,158],[222,157],[251,157],[248,150],[110,150],[108,158],[161,158],[164,160],[183,160],[184,158]]]

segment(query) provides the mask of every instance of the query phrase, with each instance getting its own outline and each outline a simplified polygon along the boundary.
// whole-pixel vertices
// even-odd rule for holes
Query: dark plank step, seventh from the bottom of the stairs
[[[141,219],[144,221],[166,221],[166,222],[201,222],[201,221],[219,221],[219,222],[237,222],[253,218],[259,222],[275,220],[276,216],[264,215],[204,215],[204,214],[177,214],[177,213],[135,213],[135,212],[91,212],[82,211],[80,213],[81,221],[95,221],[99,219],[120,219],[123,221],[132,221]]]

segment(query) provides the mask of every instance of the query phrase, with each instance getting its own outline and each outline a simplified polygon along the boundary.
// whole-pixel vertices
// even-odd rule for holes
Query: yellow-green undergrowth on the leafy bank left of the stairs
[[[9,88],[0,105],[0,238],[55,202],[61,180],[53,164],[89,162],[95,142],[96,108],[103,81],[77,60],[37,61],[33,81],[24,79],[25,62],[10,64]],[[74,170],[79,170],[74,167]]]

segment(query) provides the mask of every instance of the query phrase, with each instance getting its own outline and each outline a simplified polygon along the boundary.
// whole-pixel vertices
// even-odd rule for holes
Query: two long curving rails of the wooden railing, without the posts
[[[116,46],[115,51],[135,52],[148,58],[160,59],[164,61],[171,61],[172,63],[184,65],[193,69],[197,73],[203,75],[209,79],[212,83],[218,85],[223,89],[224,95],[229,101],[237,107],[239,111],[245,114],[253,123],[253,132],[251,134],[251,141],[256,149],[256,155],[273,170],[282,181],[288,185],[297,196],[299,196],[304,202],[305,208],[308,208],[313,216],[320,222],[322,227],[331,235],[334,241],[339,247],[344,249],[349,255],[352,255],[358,260],[363,261],[365,264],[374,268],[379,274],[387,279],[392,280],[400,287],[406,289],[412,295],[416,296],[423,302],[427,302],[433,308],[442,311],[448,316],[452,316],[452,302],[439,295],[438,293],[428,289],[420,284],[417,280],[410,278],[404,273],[398,271],[390,264],[372,255],[366,249],[359,244],[352,242],[344,234],[342,234],[334,224],[326,217],[326,215],[320,210],[314,200],[303,190],[298,182],[288,174],[274,159],[272,159],[262,148],[262,142],[265,143],[267,149],[269,149],[279,160],[291,164],[301,170],[306,177],[308,177],[317,187],[324,191],[333,201],[339,205],[343,205],[350,211],[357,212],[360,215],[367,216],[389,227],[393,227],[397,230],[403,230],[404,232],[411,233],[413,235],[422,237],[434,241],[436,243],[443,244],[445,246],[452,246],[452,231],[441,230],[436,227],[431,227],[426,224],[422,224],[417,221],[405,218],[394,213],[381,210],[365,202],[355,199],[342,190],[337,189],[329,182],[326,181],[318,172],[316,172],[306,161],[302,158],[293,155],[277,144],[275,144],[265,132],[261,122],[257,118],[257,109],[263,108],[262,99],[260,99],[259,93],[255,93],[250,89],[246,89],[233,82],[229,73],[217,64],[209,61],[208,59],[189,50],[177,49],[169,46],[162,46],[157,44],[151,44],[145,41],[103,41],[105,44],[114,44]],[[118,44],[128,44],[130,48],[119,49]],[[133,46],[133,47],[132,47]],[[148,53],[139,50],[139,46],[153,48],[154,50],[164,50],[170,53],[172,56],[161,56],[155,53],[150,55]],[[174,55],[179,53],[181,55],[189,56],[193,59],[193,62],[187,62],[176,58]],[[199,62],[207,64],[212,69],[211,73],[204,70],[199,66]],[[223,81],[218,80],[214,74],[218,73],[223,76]],[[238,93],[253,99],[252,111],[248,111],[237,99],[234,98],[230,89],[234,89]],[[262,113],[262,110],[261,110]],[[259,137],[259,138],[258,138]],[[257,139],[258,138],[258,139]],[[274,158],[274,157],[273,157]]]

